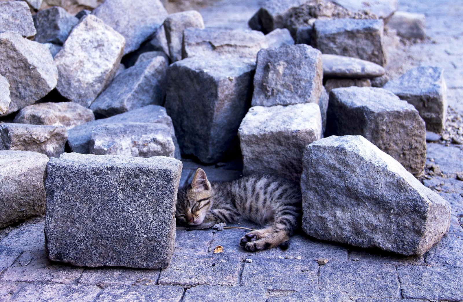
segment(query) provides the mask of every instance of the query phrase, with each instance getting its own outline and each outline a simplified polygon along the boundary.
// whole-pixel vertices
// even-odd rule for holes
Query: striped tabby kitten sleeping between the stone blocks
[[[267,227],[246,233],[240,245],[255,252],[289,246],[289,236],[301,216],[300,188],[272,175],[250,175],[236,181],[213,182],[197,169],[191,185],[178,191],[175,217],[190,229],[206,229],[215,223],[239,218]]]

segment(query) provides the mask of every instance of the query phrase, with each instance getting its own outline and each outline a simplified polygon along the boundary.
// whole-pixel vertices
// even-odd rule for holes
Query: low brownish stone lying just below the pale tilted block
[[[38,103],[19,110],[15,123],[62,126],[72,129],[75,126],[94,121],[92,110],[74,102]]]

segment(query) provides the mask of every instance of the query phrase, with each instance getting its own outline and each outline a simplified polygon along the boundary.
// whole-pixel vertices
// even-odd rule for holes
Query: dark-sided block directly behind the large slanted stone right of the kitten
[[[362,135],[415,176],[426,162],[426,129],[418,111],[382,88],[334,89],[327,135]]]

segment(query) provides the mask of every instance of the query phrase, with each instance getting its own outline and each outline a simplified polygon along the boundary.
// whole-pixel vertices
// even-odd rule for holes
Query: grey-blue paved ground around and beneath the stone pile
[[[461,114],[463,6],[450,0],[400,2],[402,10],[426,13],[430,39],[398,42],[389,74],[419,64],[443,66],[449,102]],[[257,7],[257,1],[230,0],[202,14],[209,26],[240,27]],[[427,164],[442,173],[424,184],[449,200],[453,210],[449,234],[423,256],[402,257],[304,235],[294,236],[288,251],[249,254],[238,245],[241,230],[179,228],[174,260],[165,270],[79,268],[47,260],[44,222],[38,217],[0,230],[0,301],[463,301],[463,181],[456,179],[463,172],[462,149],[429,144]],[[184,162],[183,183],[198,166]],[[203,167],[212,180],[241,173],[239,163],[218,166]],[[219,245],[225,252],[213,254]],[[314,261],[319,257],[329,262],[319,265]]]

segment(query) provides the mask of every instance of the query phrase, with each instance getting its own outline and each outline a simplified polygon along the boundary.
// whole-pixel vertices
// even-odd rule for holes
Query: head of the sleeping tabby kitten
[[[178,190],[175,218],[181,225],[199,225],[211,208],[213,189],[206,172],[198,168],[191,185]]]

